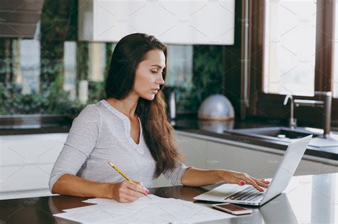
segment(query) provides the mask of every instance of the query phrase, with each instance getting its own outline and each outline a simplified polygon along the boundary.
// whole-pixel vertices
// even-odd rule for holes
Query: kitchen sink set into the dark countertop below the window
[[[319,137],[321,135],[319,132],[310,132],[302,128],[290,129],[289,127],[260,127],[247,129],[233,129],[233,130],[225,130],[225,132],[246,135],[249,137],[258,137],[262,139],[286,140],[286,141],[306,137],[309,134],[313,134],[313,137]]]

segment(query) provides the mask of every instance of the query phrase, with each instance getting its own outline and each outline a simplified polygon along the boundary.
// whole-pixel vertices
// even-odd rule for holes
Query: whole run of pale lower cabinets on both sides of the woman
[[[280,154],[238,146],[238,142],[220,142],[176,131],[184,163],[200,169],[229,169],[256,178],[271,178],[282,159]],[[0,199],[51,195],[48,180],[67,133],[17,134],[1,136]],[[271,149],[273,151],[273,149]],[[338,172],[337,163],[324,164],[302,159],[295,175]],[[153,187],[172,186],[161,175]]]

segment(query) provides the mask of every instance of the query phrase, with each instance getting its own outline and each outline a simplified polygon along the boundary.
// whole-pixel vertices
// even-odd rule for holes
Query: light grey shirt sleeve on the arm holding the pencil
[[[78,117],[73,119],[63,149],[51,170],[48,181],[50,191],[63,174],[78,173],[96,146],[100,125],[101,116],[95,105],[87,105]]]

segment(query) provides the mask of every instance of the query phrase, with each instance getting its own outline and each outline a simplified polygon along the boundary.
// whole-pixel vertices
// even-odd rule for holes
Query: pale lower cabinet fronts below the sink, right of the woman
[[[284,151],[277,149],[252,149],[245,142],[217,142],[217,138],[205,139],[198,134],[176,131],[180,152],[185,155],[185,164],[200,169],[227,169],[245,172],[255,178],[272,178],[282,160]],[[242,144],[238,146],[236,144]],[[265,151],[263,151],[265,150]],[[279,151],[272,153],[270,151]],[[331,163],[331,164],[330,164]],[[308,174],[329,174],[338,172],[338,163],[302,159],[295,176]],[[159,178],[155,186],[170,186],[163,178]]]

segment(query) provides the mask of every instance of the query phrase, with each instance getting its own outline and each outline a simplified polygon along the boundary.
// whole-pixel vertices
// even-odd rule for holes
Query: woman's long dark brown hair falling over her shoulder
[[[113,50],[106,79],[106,99],[123,100],[133,90],[135,70],[145,60],[149,50],[162,50],[167,62],[167,46],[154,36],[145,33],[132,33],[123,37]],[[163,69],[163,80],[167,73]],[[145,143],[156,162],[154,177],[175,167],[175,160],[182,159],[173,127],[166,114],[167,105],[163,95],[163,85],[153,100],[138,100],[135,113],[140,117]]]

